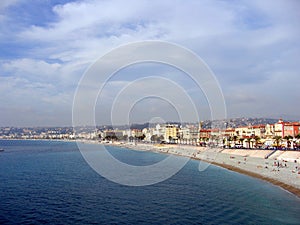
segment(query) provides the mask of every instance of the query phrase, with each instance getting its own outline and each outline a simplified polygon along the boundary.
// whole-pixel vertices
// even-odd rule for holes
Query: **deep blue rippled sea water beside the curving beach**
[[[300,200],[267,182],[189,163],[151,186],[98,175],[76,143],[0,140],[0,224],[300,224]],[[133,165],[166,155],[110,147]]]

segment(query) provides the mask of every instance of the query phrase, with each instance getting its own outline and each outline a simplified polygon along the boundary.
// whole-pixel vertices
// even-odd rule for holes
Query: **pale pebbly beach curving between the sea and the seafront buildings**
[[[265,180],[300,197],[300,151],[221,149],[143,143],[113,143],[108,145],[202,160]]]

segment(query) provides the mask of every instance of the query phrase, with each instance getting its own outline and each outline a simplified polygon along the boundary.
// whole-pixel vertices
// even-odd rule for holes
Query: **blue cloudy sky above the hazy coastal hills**
[[[2,0],[0,126],[72,125],[86,71],[113,49],[145,40],[197,54],[221,87],[227,118],[299,120],[299,21],[297,0]],[[158,97],[139,100],[150,89]],[[167,92],[188,95],[198,115],[180,118],[178,107],[193,110],[179,95],[176,103],[159,97]],[[95,121],[195,122],[210,119],[209,102],[182,71],[142,63],[106,82]]]

